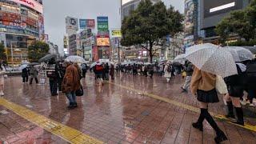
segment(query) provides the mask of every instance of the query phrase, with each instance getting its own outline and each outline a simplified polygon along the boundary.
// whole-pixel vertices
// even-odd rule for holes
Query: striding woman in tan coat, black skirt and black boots
[[[194,68],[194,73],[191,78],[190,89],[192,94],[197,96],[199,106],[201,109],[198,122],[194,122],[192,126],[200,131],[203,130],[202,122],[206,121],[214,129],[216,137],[214,141],[216,143],[226,141],[226,135],[218,127],[217,123],[214,121],[214,118],[208,112],[208,104],[219,102],[218,94],[215,89],[216,87],[216,75],[210,74],[205,71],[199,70],[197,67]]]

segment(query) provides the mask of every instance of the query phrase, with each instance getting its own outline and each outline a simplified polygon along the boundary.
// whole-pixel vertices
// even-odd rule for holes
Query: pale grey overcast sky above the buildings
[[[129,0],[124,0],[129,1]],[[92,18],[108,16],[110,29],[120,28],[121,0],[44,0],[45,30],[50,42],[54,42],[62,53],[65,34],[65,17]],[[163,0],[166,6],[184,11],[184,0]]]

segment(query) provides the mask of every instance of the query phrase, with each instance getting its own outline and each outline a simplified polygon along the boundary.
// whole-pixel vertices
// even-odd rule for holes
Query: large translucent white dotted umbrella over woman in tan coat
[[[238,74],[234,58],[229,51],[221,50],[222,48],[213,44],[200,44],[188,49],[186,59],[198,69],[223,78]]]

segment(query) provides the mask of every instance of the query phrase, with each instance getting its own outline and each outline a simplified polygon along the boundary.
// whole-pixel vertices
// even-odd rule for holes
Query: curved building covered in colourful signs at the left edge
[[[27,61],[30,43],[44,36],[42,0],[0,0],[0,41],[8,63]]]

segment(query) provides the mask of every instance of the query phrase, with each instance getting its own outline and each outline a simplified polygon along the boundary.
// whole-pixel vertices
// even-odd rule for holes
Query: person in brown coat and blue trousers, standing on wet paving
[[[78,107],[78,103],[76,101],[76,91],[80,90],[81,82],[79,74],[79,70],[77,66],[72,64],[71,62],[65,62],[66,65],[66,74],[64,75],[62,82],[62,92],[66,94],[66,98],[69,99],[69,109],[73,109]]]

